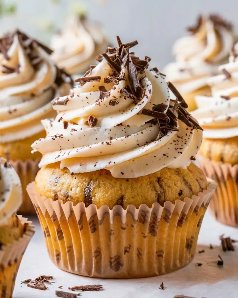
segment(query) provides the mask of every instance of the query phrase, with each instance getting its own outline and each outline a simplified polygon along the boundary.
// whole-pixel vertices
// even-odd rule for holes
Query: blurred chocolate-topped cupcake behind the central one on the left
[[[45,136],[41,119],[54,118],[55,96],[66,95],[71,78],[50,58],[51,50],[16,30],[0,39],[0,156],[10,161],[23,187],[20,212],[35,212],[25,191],[41,155],[31,144]]]

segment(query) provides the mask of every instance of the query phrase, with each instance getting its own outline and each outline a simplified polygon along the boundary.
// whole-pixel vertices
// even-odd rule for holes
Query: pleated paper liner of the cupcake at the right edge
[[[206,176],[217,182],[217,190],[209,206],[209,210],[217,221],[238,226],[237,173],[238,165],[214,162],[197,156],[197,161]]]

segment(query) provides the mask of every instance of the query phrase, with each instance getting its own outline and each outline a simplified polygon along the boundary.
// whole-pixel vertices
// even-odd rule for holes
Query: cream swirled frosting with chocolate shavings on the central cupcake
[[[72,94],[53,100],[58,115],[42,121],[47,136],[32,145],[43,154],[40,166],[60,162],[73,173],[107,169],[135,178],[186,168],[194,159],[202,130],[187,104],[158,69],[148,69],[150,58],[130,52],[137,41],[117,39],[118,47],[99,56]]]

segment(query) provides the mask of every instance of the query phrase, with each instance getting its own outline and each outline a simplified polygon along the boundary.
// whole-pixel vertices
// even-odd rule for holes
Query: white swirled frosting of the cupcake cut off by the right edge
[[[197,96],[198,109],[192,115],[204,128],[205,138],[231,138],[238,135],[238,60],[237,44],[229,63],[219,67],[220,75],[208,80],[212,97]]]

